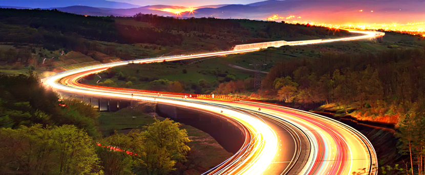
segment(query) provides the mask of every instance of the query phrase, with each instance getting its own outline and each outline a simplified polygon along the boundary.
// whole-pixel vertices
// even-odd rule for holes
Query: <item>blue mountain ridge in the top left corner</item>
[[[129,9],[140,6],[105,0],[2,0],[0,6],[23,6],[29,8],[58,8],[69,6],[90,6],[99,8]]]

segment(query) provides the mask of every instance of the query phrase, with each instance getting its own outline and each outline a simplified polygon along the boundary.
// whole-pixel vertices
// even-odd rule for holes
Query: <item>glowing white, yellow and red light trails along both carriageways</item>
[[[381,32],[350,32],[361,33],[365,35],[339,39],[328,39],[317,42],[300,43],[295,45],[365,39],[384,35],[384,33]],[[74,94],[77,93],[118,99],[155,101],[158,103],[169,103],[187,106],[190,108],[196,108],[212,113],[219,113],[220,111],[223,111],[222,115],[225,115],[242,123],[249,130],[252,138],[249,144],[241,148],[241,150],[245,149],[245,151],[243,152],[243,157],[238,157],[237,159],[235,159],[236,161],[233,160],[228,165],[224,166],[223,169],[213,174],[261,174],[265,170],[267,170],[267,168],[270,166],[270,163],[277,155],[279,144],[277,135],[274,130],[270,128],[270,126],[268,126],[267,123],[260,116],[256,117],[256,115],[251,115],[249,113],[244,112],[244,110],[255,111],[258,108],[258,104],[242,104],[236,102],[195,98],[182,100],[182,96],[178,95],[164,94],[164,96],[157,96],[157,94],[153,93],[137,91],[133,92],[128,90],[124,91],[116,89],[112,90],[108,88],[99,88],[90,85],[84,85],[77,82],[79,78],[84,77],[86,75],[102,72],[111,67],[125,65],[128,63],[148,63],[193,59],[201,57],[246,53],[257,50],[258,48],[197,55],[179,55],[171,57],[137,59],[132,61],[101,64],[58,73],[43,79],[42,82],[46,85],[52,86],[53,89],[71,92]],[[60,82],[60,84],[58,83],[58,81]],[[230,108],[227,106],[234,106],[242,108],[243,110],[239,110],[237,108]],[[367,157],[367,154],[365,154],[365,152],[367,151],[365,149],[368,148],[368,145],[364,146],[363,143],[365,141],[354,137],[354,135],[356,134],[354,134],[350,129],[346,129],[332,122],[318,120],[316,118],[310,117],[309,115],[297,113],[296,111],[288,112],[276,110],[271,107],[265,107],[263,109],[264,110],[262,110],[261,113],[271,115],[275,118],[279,118],[281,120],[288,121],[293,125],[296,125],[298,128],[303,130],[303,132],[309,138],[309,142],[311,145],[310,157],[306,162],[305,167],[302,169],[301,174],[351,174],[351,171],[353,169],[357,170],[356,168],[364,168],[361,166],[371,164],[371,162],[366,159],[366,163],[365,160],[360,160],[360,162],[356,162],[355,166],[353,165],[353,162],[355,161],[355,159],[353,158],[354,154],[356,154],[357,157],[360,158]],[[370,144],[370,142],[365,142],[364,144]],[[356,145],[354,147],[354,150],[352,150],[352,147],[350,145]],[[371,147],[371,145],[369,146]],[[371,154],[370,150],[368,154]],[[374,156],[374,158],[376,158],[376,155]],[[368,171],[371,170],[371,167],[366,167]]]

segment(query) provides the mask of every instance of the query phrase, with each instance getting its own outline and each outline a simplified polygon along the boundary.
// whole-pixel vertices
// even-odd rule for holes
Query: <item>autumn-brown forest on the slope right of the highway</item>
[[[396,125],[404,165],[381,167],[388,174],[425,173],[425,47],[378,54],[326,53],[274,65],[253,98],[285,104],[334,103],[358,120]],[[225,82],[216,93],[249,91],[243,81]],[[395,119],[394,119],[395,118]]]

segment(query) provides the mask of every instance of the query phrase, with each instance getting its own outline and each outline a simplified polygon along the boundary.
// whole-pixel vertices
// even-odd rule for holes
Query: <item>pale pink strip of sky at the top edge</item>
[[[110,0],[111,1],[111,0]],[[250,4],[265,0],[113,0],[115,2],[130,3],[139,6],[147,5],[174,5],[184,7],[198,7],[218,4]]]

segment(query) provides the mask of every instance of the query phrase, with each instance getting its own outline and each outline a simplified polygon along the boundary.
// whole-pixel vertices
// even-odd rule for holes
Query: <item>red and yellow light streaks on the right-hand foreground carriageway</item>
[[[245,103],[244,101],[241,101],[241,102]],[[263,104],[259,104],[259,105],[263,105]],[[267,104],[264,104],[264,105],[267,105]],[[254,107],[251,107],[251,108],[254,108]],[[276,108],[279,108],[281,110],[276,110]],[[313,138],[316,138],[316,140],[313,140],[313,141],[315,142],[314,144],[316,145],[316,147],[318,147],[319,149],[317,151],[317,156],[315,156],[315,160],[312,161],[314,162],[313,166],[309,168],[310,172],[312,173],[309,173],[309,174],[327,174],[326,171],[320,168],[320,166],[329,168],[328,170],[329,174],[347,174],[347,173],[350,174],[352,170],[359,170],[363,168],[366,168],[366,171],[367,172],[369,171],[372,174],[377,173],[376,169],[372,169],[373,168],[372,164],[377,165],[377,160],[376,160],[376,153],[374,152],[374,149],[371,143],[367,140],[367,138],[361,135],[358,131],[354,129],[350,129],[349,126],[344,124],[338,124],[337,121],[334,121],[332,119],[314,117],[315,114],[312,114],[309,112],[301,112],[301,111],[299,112],[299,110],[293,110],[283,106],[269,105],[269,107],[264,107],[262,112],[263,111],[267,111],[267,113],[274,115],[276,117],[289,120],[290,121],[289,123],[298,123],[299,126],[305,127],[303,128],[303,130],[306,129],[306,132],[308,134],[315,135]],[[300,114],[305,114],[305,115],[300,115]],[[319,120],[315,120],[315,118],[318,118]],[[354,136],[357,136],[357,137],[354,137]],[[326,152],[321,152],[320,151],[321,147],[326,146],[326,145],[323,145],[324,143],[325,144],[328,143],[329,148],[324,149]],[[357,145],[357,146],[353,147],[352,145]],[[368,148],[368,145],[370,146],[370,148]],[[329,150],[332,151],[333,149],[336,149],[338,151],[328,152]],[[346,155],[345,152],[350,152],[350,155],[349,156]],[[333,156],[333,157],[330,157],[330,156]],[[353,158],[353,156],[355,156],[355,158]],[[361,159],[359,160],[359,158]],[[350,168],[339,170],[339,167],[344,167],[344,165],[346,164],[345,162],[347,161],[350,161],[350,166],[349,166]],[[337,164],[328,165],[326,164],[326,162],[335,162],[335,163],[339,162],[339,165]],[[347,173],[338,173],[340,171],[344,171]]]

